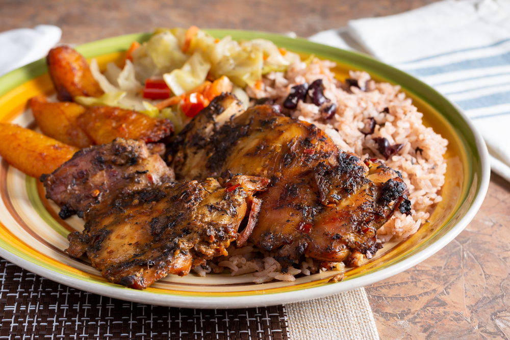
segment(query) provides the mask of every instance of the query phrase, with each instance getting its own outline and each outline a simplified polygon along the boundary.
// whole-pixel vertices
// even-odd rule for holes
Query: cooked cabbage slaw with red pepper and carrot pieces
[[[168,118],[178,133],[201,108],[212,100],[211,93],[226,89],[244,104],[250,98],[247,86],[256,85],[262,75],[286,71],[299,56],[278,48],[265,39],[237,42],[230,36],[215,39],[192,26],[190,29],[160,28],[143,44],[133,43],[123,67],[109,63],[101,73],[97,61],[90,63],[92,75],[105,94],[99,98],[76,97],[85,105],[108,105]],[[225,86],[224,79],[230,86]],[[222,79],[212,91],[211,86]],[[147,80],[162,79],[173,97],[152,100],[143,97]],[[205,95],[206,92],[209,94]],[[147,90],[147,89],[145,89]],[[166,105],[168,103],[168,106]]]

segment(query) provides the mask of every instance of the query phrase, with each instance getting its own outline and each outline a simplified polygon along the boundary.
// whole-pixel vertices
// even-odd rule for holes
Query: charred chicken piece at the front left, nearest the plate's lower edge
[[[208,178],[118,196],[96,214],[83,233],[69,234],[66,251],[84,253],[114,283],[145,289],[166,276],[187,275],[238,238],[246,201],[269,180],[235,176],[227,188]]]

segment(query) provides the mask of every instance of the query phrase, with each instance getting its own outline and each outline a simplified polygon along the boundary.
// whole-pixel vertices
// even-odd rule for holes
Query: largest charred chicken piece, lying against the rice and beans
[[[372,257],[377,229],[396,208],[410,211],[400,174],[342,152],[315,125],[271,106],[240,108],[224,94],[193,118],[171,150],[176,178],[270,178],[250,240],[284,268],[302,254],[353,265]]]

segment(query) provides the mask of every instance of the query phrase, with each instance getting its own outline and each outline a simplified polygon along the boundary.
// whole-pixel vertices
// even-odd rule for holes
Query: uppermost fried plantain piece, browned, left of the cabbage
[[[104,94],[85,58],[71,47],[50,49],[46,61],[60,101],[72,101],[76,96],[100,97]]]

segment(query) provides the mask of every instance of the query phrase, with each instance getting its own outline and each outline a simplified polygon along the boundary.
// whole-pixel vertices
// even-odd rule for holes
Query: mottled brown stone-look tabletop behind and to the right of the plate
[[[224,28],[307,37],[347,20],[391,15],[433,0],[0,0],[0,32],[46,23],[85,43],[155,27]],[[468,227],[436,255],[367,286],[381,339],[510,339],[510,184],[492,174]]]

